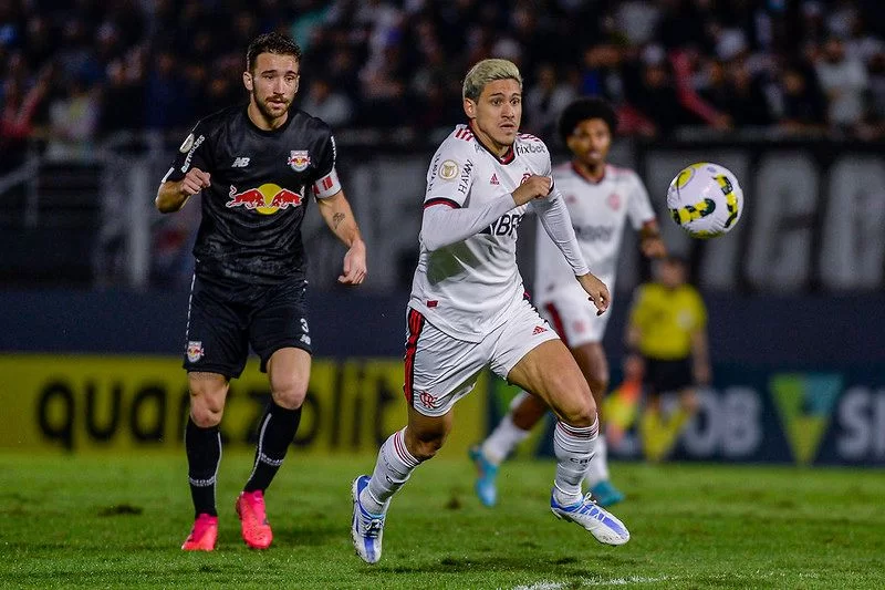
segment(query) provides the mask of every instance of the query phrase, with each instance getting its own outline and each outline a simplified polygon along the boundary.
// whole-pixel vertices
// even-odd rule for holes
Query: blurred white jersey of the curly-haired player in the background
[[[590,271],[614,292],[624,224],[629,217],[633,228],[641,229],[644,224],[655,219],[655,210],[643,182],[628,168],[606,165],[602,180],[593,183],[575,170],[571,163],[553,169],[553,182],[569,207],[574,234]],[[562,252],[540,224],[534,277],[532,294],[539,302],[555,297],[560,289],[580,291],[582,298],[586,299]]]

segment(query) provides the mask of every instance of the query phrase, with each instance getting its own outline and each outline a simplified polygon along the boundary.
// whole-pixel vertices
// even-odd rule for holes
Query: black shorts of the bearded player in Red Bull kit
[[[312,352],[306,281],[247,288],[194,277],[188,303],[184,368],[238,377],[249,346],[267,372],[271,354],[287,346]]]

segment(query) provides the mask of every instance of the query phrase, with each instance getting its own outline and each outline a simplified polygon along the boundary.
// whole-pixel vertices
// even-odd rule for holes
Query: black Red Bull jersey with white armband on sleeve
[[[261,284],[303,278],[309,197],[341,190],[329,125],[292,110],[282,127],[263,131],[246,105],[233,106],[197,123],[178,152],[163,182],[180,180],[191,167],[210,174],[197,273]]]

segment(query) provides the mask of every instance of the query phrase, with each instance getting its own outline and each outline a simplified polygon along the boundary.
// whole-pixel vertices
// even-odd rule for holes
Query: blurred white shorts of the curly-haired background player
[[[596,315],[596,307],[580,288],[544,293],[544,299],[538,301],[538,311],[570,349],[602,342],[612,317],[611,306],[605,313]]]

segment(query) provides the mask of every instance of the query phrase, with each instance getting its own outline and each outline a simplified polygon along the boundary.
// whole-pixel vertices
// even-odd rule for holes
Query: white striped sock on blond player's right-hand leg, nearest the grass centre
[[[553,451],[556,454],[556,478],[553,495],[562,506],[581,499],[581,480],[587,472],[596,446],[600,421],[592,426],[579,428],[556,422],[553,432]]]

